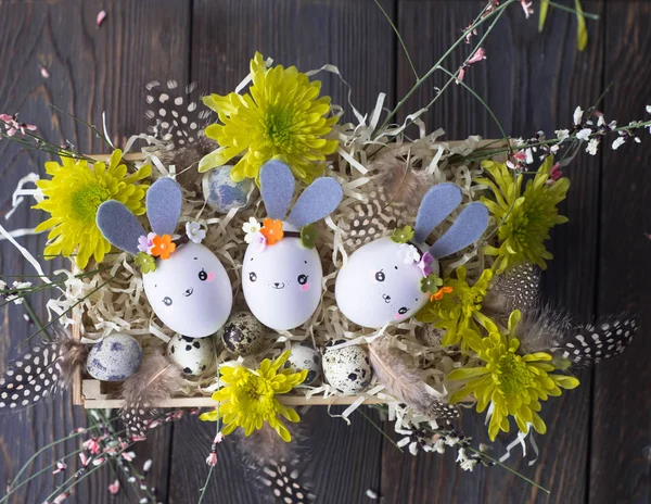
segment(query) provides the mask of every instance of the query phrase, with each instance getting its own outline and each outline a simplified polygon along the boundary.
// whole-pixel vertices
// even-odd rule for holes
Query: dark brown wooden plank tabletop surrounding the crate
[[[571,1],[560,0],[573,4]],[[436,61],[460,28],[482,8],[481,0],[383,0],[409,47],[419,72]],[[538,8],[538,2],[534,2]],[[550,10],[544,35],[536,16],[525,21],[514,5],[485,45],[488,60],[469,72],[468,83],[496,111],[506,130],[531,136],[571,124],[574,108],[592,104],[614,81],[600,108],[621,123],[648,117],[651,103],[651,2],[583,1],[599,13],[588,21],[587,49],[576,50],[576,21]],[[106,9],[101,28],[95,16]],[[102,111],[120,141],[143,130],[141,91],[151,79],[196,80],[202,91],[226,93],[247,72],[255,50],[301,70],[339,65],[353,86],[361,111],[374,104],[379,92],[388,104],[412,84],[412,74],[391,27],[372,0],[0,0],[0,112],[20,111],[23,121],[38,124],[51,139],[69,139],[85,152],[103,146],[85,127],[53,114],[49,103],[99,124]],[[467,54],[450,58],[454,68]],[[50,78],[39,73],[46,66]],[[433,96],[423,86],[405,111],[413,111]],[[345,89],[334,77],[323,78],[335,102],[345,102]],[[431,130],[443,127],[447,138],[498,136],[489,115],[462,88],[452,86],[426,117]],[[42,173],[46,156],[24,152],[0,141],[0,217],[25,174]],[[582,154],[566,171],[572,179],[563,205],[570,224],[554,229],[550,248],[556,255],[545,276],[550,299],[588,319],[624,308],[637,310],[643,329],[622,358],[580,373],[582,387],[544,407],[548,433],[538,438],[541,454],[534,467],[510,463],[551,490],[529,487],[501,468],[462,472],[451,452],[419,456],[397,452],[363,418],[353,426],[331,419],[323,408],[307,415],[315,446],[319,502],[365,503],[367,489],[385,503],[648,503],[651,500],[651,141],[603,149],[592,158]],[[16,229],[34,227],[37,212],[23,204],[9,223]],[[44,237],[20,240],[39,253]],[[55,267],[48,263],[47,268]],[[0,272],[33,273],[18,253],[0,242]],[[31,300],[43,315],[44,297]],[[34,331],[22,306],[1,308],[0,356],[15,355],[16,344]],[[38,448],[84,425],[85,415],[65,395],[26,413],[0,417],[0,474],[12,478]],[[463,431],[485,440],[483,419],[468,414]],[[392,431],[386,425],[385,429]],[[214,426],[196,418],[161,429],[138,450],[140,464],[154,461],[150,476],[163,502],[195,502],[203,484]],[[73,450],[74,443],[67,444]],[[31,465],[37,471],[64,454],[63,446]],[[114,475],[98,471],[77,489],[71,502],[137,502],[123,490],[106,490]],[[40,503],[62,476],[46,474],[24,488],[13,502]],[[204,502],[253,503],[254,494],[232,455],[219,446],[219,464]]]

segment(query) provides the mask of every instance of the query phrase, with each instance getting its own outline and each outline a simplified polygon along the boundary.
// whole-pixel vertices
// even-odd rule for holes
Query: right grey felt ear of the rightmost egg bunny
[[[445,257],[477,241],[488,226],[488,209],[483,203],[470,203],[457,217],[452,227],[431,248],[430,253]]]

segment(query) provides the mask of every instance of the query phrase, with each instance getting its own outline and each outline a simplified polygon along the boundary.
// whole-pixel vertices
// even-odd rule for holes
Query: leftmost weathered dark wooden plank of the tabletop
[[[106,111],[108,130],[115,140],[144,128],[142,87],[152,78],[183,78],[188,72],[189,5],[187,0],[161,2],[0,1],[0,111],[21,112],[22,121],[37,124],[41,133],[54,142],[71,140],[81,151],[104,151],[105,146],[90,135],[86,126],[75,124],[63,115],[52,113],[50,103],[78,117],[101,124]],[[102,9],[108,17],[101,28],[95,16]],[[39,73],[43,65],[50,78]],[[119,135],[118,135],[119,133]],[[47,156],[18,151],[14,144],[0,141],[0,216],[11,209],[11,194],[17,180],[29,172],[42,172]],[[9,229],[35,227],[43,217],[29,211],[25,201],[9,222]],[[34,254],[40,254],[44,236],[22,238],[20,241]],[[63,267],[61,262],[43,262],[46,272]],[[33,274],[21,255],[7,242],[0,242],[2,274]],[[48,292],[31,300],[36,312],[43,317]],[[35,331],[24,320],[24,307],[8,305],[1,308],[0,356],[4,363],[16,354],[16,344]],[[1,421],[0,474],[13,478],[17,468],[38,448],[59,439],[74,427],[85,424],[85,414],[73,408],[69,394],[27,412],[5,416]],[[150,481],[161,489],[159,497],[167,499],[167,463],[170,430],[161,429],[137,450],[140,464],[152,456],[154,466]],[[33,464],[28,474],[46,468],[65,453],[78,449],[77,442],[58,446],[51,454]],[[50,471],[36,478],[12,502],[42,502],[53,489],[74,470],[69,464],[65,477]],[[71,497],[77,502],[116,502],[107,492],[114,479],[104,468],[80,483]],[[123,481],[123,488],[129,487]],[[137,502],[135,494],[122,492],[117,501]]]

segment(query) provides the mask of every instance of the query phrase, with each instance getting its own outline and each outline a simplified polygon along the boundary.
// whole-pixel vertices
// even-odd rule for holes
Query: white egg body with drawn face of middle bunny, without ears
[[[283,223],[283,231],[297,231]],[[242,286],[248,310],[275,330],[301,326],[315,313],[321,298],[323,269],[316,249],[285,236],[260,250],[252,243],[244,254]]]

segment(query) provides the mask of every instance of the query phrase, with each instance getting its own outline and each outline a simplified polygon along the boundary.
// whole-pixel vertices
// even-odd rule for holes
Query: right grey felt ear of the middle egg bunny
[[[288,223],[301,228],[330,215],[342,202],[344,190],[332,177],[317,178],[296,201]]]

